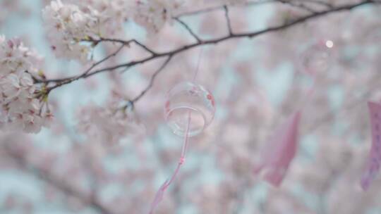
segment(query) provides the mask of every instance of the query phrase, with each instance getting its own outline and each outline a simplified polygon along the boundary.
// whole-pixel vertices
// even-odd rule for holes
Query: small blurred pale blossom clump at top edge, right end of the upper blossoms
[[[145,27],[148,34],[156,34],[171,21],[174,12],[180,8],[181,0],[139,0],[134,20]]]

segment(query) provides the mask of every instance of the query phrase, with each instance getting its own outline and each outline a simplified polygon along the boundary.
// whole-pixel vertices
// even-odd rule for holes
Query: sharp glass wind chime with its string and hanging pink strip
[[[155,199],[151,203],[150,214],[154,213],[160,201],[162,201],[165,191],[174,182],[181,165],[185,163],[189,137],[201,134],[214,118],[215,103],[213,95],[205,87],[195,82],[201,56],[202,52],[198,59],[193,80],[176,84],[167,94],[164,117],[172,132],[179,137],[183,137],[183,145],[179,163],[169,180],[166,180],[157,191]]]

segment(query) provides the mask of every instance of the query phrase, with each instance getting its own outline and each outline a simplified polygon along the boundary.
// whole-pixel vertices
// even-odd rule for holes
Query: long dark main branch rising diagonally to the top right
[[[143,63],[146,63],[148,61],[152,61],[152,60],[155,60],[157,58],[162,58],[162,57],[169,57],[169,56],[174,56],[176,55],[177,53],[181,53],[183,51],[188,51],[189,49],[193,49],[195,47],[198,47],[198,46],[204,46],[204,45],[209,45],[209,44],[218,44],[219,42],[224,42],[226,40],[229,40],[229,39],[238,39],[238,38],[253,38],[253,37],[257,37],[259,35],[262,35],[262,34],[266,34],[266,33],[269,33],[269,32],[277,32],[279,30],[285,30],[289,27],[293,27],[295,25],[298,25],[298,24],[301,24],[301,23],[304,23],[308,20],[313,20],[315,18],[320,18],[322,17],[323,15],[328,15],[329,13],[336,13],[336,12],[340,12],[340,11],[351,11],[353,8],[358,8],[360,6],[363,6],[365,4],[380,4],[380,1],[372,1],[372,0],[367,0],[367,1],[361,1],[361,2],[358,2],[356,4],[345,4],[345,5],[341,5],[341,6],[337,6],[335,8],[331,8],[331,9],[328,9],[326,11],[320,11],[320,12],[316,12],[316,13],[313,13],[313,14],[310,14],[310,15],[305,15],[301,18],[297,18],[296,20],[292,20],[291,22],[289,23],[284,23],[282,25],[277,25],[277,26],[274,26],[274,27],[268,27],[264,30],[258,30],[258,31],[255,31],[255,32],[246,32],[246,33],[235,33],[235,34],[230,34],[230,35],[227,35],[225,37],[219,37],[219,38],[216,38],[216,39],[208,39],[208,40],[201,40],[199,42],[195,42],[193,44],[188,44],[188,45],[185,45],[185,46],[182,46],[182,47],[179,47],[178,49],[174,49],[174,50],[171,50],[171,51],[167,51],[167,52],[162,52],[162,53],[153,53],[152,56],[148,56],[147,58],[143,58],[143,59],[140,59],[138,61],[130,61],[128,63],[122,63],[122,64],[119,64],[119,65],[114,65],[114,66],[111,66],[109,68],[102,68],[102,69],[99,69],[99,70],[94,70],[90,73],[87,73],[86,75],[84,75],[83,77],[81,78],[86,78],[86,77],[90,77],[92,75],[96,75],[98,73],[104,73],[104,72],[109,72],[111,70],[116,70],[116,69],[119,69],[119,68],[131,68],[135,65],[140,65],[140,64],[143,64]],[[123,40],[118,40],[118,39],[103,39],[104,41],[109,41],[109,42],[123,42]],[[130,41],[133,41],[133,40],[130,40]],[[64,78],[62,80],[54,80],[54,82],[57,82],[57,84],[59,84],[59,86],[63,85],[63,84],[68,84],[70,82],[73,82],[75,80],[79,80],[80,78],[77,78],[77,77],[69,77],[69,78]],[[52,80],[51,80],[52,82]]]

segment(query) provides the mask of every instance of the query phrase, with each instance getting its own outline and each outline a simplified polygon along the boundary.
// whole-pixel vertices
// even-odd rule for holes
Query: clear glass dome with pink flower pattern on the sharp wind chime
[[[188,137],[198,135],[214,118],[213,95],[200,84],[181,82],[169,90],[164,106],[167,125],[174,134]]]

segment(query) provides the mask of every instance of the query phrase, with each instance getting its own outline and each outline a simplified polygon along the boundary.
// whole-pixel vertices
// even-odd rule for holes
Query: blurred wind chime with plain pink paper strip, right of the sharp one
[[[326,72],[331,64],[331,49],[333,42],[330,40],[320,41],[303,51],[298,63],[298,70],[310,75],[313,84],[308,89],[305,99],[296,108],[289,118],[270,136],[269,141],[263,146],[260,152],[260,161],[253,168],[255,175],[259,175],[263,180],[275,187],[284,180],[291,161],[294,159],[298,148],[298,127],[301,120],[303,108],[315,92],[316,76]]]

